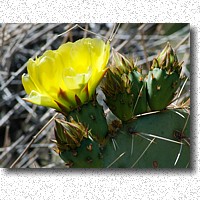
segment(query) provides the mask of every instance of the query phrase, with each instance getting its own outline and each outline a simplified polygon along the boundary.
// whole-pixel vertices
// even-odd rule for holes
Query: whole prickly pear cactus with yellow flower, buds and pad
[[[55,120],[55,151],[72,168],[189,167],[189,109],[167,107],[182,79],[182,64],[170,44],[146,75],[115,51],[106,67],[109,48],[109,42],[82,39],[46,52],[46,60],[30,61],[30,76],[23,76],[26,100],[61,113]],[[66,56],[66,63],[60,62]],[[58,87],[46,75],[52,57]],[[107,110],[96,98],[100,82]],[[108,119],[111,112],[114,120]]]

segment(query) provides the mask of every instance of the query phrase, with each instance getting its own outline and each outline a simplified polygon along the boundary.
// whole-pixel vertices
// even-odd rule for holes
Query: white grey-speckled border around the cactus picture
[[[191,170],[0,170],[0,199],[199,199],[198,0],[0,0],[1,22],[191,23]],[[195,108],[195,109],[193,109]]]

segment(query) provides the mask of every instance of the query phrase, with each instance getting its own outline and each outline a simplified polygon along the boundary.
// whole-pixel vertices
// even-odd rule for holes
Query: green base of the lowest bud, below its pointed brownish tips
[[[83,139],[80,147],[60,152],[59,155],[69,168],[101,168],[103,166],[99,145],[89,138]]]

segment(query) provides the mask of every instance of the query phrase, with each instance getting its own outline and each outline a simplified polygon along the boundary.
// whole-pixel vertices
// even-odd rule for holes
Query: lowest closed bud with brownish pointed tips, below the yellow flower
[[[92,139],[91,130],[82,123],[72,117],[70,122],[57,119],[55,138],[55,150],[67,167],[101,167],[99,144]]]

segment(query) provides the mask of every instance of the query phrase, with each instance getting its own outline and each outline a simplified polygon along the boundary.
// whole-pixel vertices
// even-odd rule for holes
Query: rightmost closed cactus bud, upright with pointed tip
[[[163,110],[171,103],[181,83],[181,65],[169,43],[153,60],[147,80],[147,98],[151,110]]]

